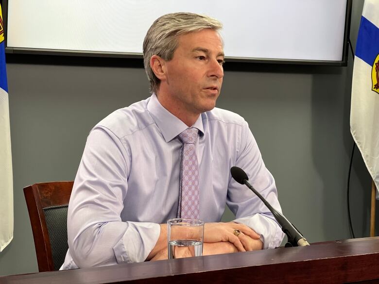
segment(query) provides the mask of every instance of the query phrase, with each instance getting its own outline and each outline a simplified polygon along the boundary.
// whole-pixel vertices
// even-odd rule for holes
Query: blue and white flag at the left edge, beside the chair
[[[4,25],[0,6],[0,251],[13,239],[13,176],[5,68]]]

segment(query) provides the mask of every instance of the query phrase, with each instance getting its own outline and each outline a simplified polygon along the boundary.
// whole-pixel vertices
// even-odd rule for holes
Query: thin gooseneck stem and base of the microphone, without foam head
[[[263,201],[264,205],[266,205],[267,208],[271,211],[276,221],[282,227],[283,233],[287,235],[288,243],[291,244],[286,245],[287,247],[309,246],[307,239],[302,234],[300,234],[300,232],[293,226],[293,224],[291,224],[291,222],[286,217],[284,217],[273,206],[271,206],[271,204],[267,202],[267,200],[265,200],[263,196],[260,195],[260,193],[253,187],[253,185],[251,185],[246,179],[243,179],[243,183],[246,184],[246,186],[250,188],[250,190],[253,191],[259,197],[259,199]]]

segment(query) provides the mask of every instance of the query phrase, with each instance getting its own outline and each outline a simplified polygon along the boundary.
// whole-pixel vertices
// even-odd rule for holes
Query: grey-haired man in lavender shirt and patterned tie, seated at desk
[[[206,222],[203,254],[280,244],[269,210],[230,176],[232,166],[245,169],[280,210],[247,123],[215,108],[224,76],[221,27],[191,13],[164,15],[150,27],[143,53],[153,94],[89,134],[69,203],[62,269],[165,259],[166,222],[175,217]],[[225,203],[233,222],[219,222]]]

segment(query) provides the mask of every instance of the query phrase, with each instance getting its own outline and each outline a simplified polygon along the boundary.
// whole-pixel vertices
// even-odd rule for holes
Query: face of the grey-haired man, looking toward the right
[[[205,29],[180,35],[172,60],[166,62],[164,82],[175,106],[191,114],[213,109],[223,83],[223,62],[217,32]]]

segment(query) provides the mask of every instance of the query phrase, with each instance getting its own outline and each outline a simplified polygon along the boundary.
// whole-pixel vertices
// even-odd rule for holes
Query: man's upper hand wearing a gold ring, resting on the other
[[[234,230],[240,230],[241,234],[236,236]],[[259,250],[259,235],[253,229],[243,224],[234,222],[228,223],[205,223],[204,225],[204,243],[230,242],[238,251]],[[263,246],[263,244],[260,246]]]

